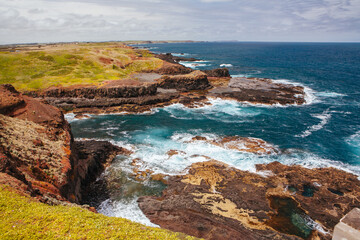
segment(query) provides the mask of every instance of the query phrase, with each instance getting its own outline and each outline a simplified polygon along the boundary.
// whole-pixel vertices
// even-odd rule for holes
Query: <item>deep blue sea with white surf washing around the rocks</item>
[[[311,168],[333,166],[360,176],[359,43],[204,42],[141,46],[156,53],[195,57],[198,62],[182,63],[194,69],[226,66],[232,76],[265,77],[302,85],[306,88],[307,104],[280,107],[209,99],[211,105],[195,109],[175,104],[141,115],[102,115],[72,121],[76,138],[111,140],[134,151],[131,157],[119,156],[103,176],[114,178],[116,172],[121,172],[121,176],[127,176],[123,186],[130,190],[101,203],[100,212],[150,225],[138,210],[136,199],[156,192],[159,186],[151,182],[139,186],[131,180],[130,162],[134,158],[143,161],[142,169],[166,174],[179,174],[194,162],[206,161],[207,156],[249,171],[254,171],[257,163],[280,161]],[[235,135],[260,138],[282,151],[262,156],[204,142],[187,142],[196,135],[211,139]],[[179,150],[181,154],[170,157],[169,150]]]

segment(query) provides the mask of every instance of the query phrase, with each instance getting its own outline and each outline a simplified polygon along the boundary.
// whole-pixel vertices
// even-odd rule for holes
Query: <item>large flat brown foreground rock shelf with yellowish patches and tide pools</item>
[[[141,197],[155,224],[205,239],[331,239],[331,229],[360,206],[360,181],[334,168],[278,162],[259,174],[217,161],[168,176],[161,197]]]

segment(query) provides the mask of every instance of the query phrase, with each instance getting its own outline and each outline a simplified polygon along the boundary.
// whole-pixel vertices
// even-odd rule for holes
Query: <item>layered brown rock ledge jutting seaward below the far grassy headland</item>
[[[155,57],[163,60],[161,68],[134,74],[129,79],[108,81],[101,86],[51,87],[24,94],[79,116],[84,113],[142,113],[173,103],[186,106],[206,103],[208,98],[267,105],[306,102],[302,86],[276,83],[271,79],[231,78],[227,68],[193,70],[179,64],[187,58],[171,54],[155,54]]]

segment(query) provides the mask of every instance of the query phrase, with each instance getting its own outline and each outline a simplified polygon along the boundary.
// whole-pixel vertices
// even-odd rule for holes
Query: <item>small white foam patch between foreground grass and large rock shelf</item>
[[[137,204],[137,198],[120,199],[117,201],[111,201],[108,199],[100,204],[97,211],[106,216],[126,218],[149,227],[159,227],[158,225],[150,222],[150,220],[141,211]]]

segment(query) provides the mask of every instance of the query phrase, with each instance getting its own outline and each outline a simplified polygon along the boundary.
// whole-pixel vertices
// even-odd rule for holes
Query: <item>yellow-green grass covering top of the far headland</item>
[[[106,63],[101,59],[112,62]],[[0,84],[20,91],[51,86],[101,85],[162,66],[149,51],[121,44],[92,43],[46,48],[44,51],[0,52]]]

